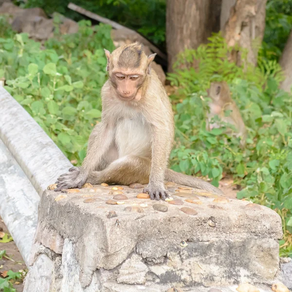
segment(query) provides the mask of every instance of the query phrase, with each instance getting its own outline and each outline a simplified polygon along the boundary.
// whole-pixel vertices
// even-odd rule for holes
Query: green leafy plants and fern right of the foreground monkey
[[[232,175],[243,187],[237,197],[276,210],[287,238],[292,233],[292,96],[279,89],[282,73],[275,61],[259,60],[257,68],[238,67],[228,60],[229,49],[222,37],[215,35],[209,41],[181,54],[175,73],[169,74],[172,84],[179,87],[172,97],[176,103],[172,168],[208,176],[214,185],[222,173]],[[221,80],[230,84],[248,129],[243,150],[239,138],[224,131],[230,125],[206,130],[206,89],[211,81]],[[283,245],[281,255],[292,256],[291,241]]]

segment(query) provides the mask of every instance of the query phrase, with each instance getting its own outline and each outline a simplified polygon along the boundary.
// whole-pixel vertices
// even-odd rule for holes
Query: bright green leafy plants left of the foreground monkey
[[[0,38],[6,89],[77,162],[84,158],[89,134],[101,117],[107,63],[103,48],[114,48],[109,26],[90,25],[81,21],[77,34],[56,36],[44,50],[25,34]]]

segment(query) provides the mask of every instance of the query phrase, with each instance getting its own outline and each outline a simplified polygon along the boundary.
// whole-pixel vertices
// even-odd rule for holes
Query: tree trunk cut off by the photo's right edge
[[[290,92],[292,87],[292,31],[282,53],[280,65],[285,74],[285,80],[282,82],[281,88]]]

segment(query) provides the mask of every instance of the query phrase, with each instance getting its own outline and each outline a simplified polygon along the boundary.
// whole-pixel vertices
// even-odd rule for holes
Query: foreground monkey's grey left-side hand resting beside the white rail
[[[80,167],[71,167],[69,172],[60,175],[56,181],[55,192],[70,188],[81,188],[87,181],[87,177],[82,175]]]

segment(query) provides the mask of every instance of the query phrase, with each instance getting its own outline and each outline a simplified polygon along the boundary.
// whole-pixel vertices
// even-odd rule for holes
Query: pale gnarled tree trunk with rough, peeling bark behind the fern
[[[236,2],[233,6],[232,2]],[[223,0],[220,24],[229,46],[247,49],[247,61],[256,65],[258,49],[264,37],[267,0]],[[229,11],[229,19],[227,20]],[[227,11],[226,11],[227,10]],[[225,20],[226,19],[226,20]],[[241,54],[234,50],[231,60],[240,65]]]

